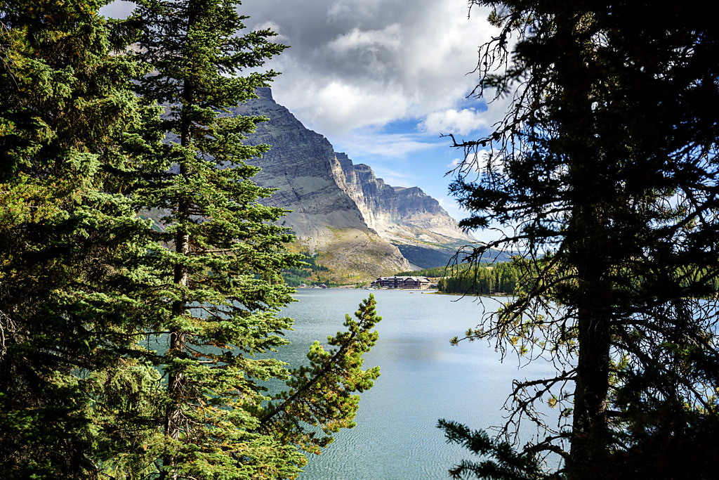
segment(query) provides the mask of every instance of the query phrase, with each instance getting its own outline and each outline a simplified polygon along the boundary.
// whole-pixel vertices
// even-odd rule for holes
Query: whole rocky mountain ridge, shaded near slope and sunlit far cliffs
[[[267,203],[292,211],[283,219],[285,225],[301,245],[319,253],[337,279],[406,271],[411,268],[406,256],[421,267],[439,266],[439,257],[476,241],[421,189],[385,184],[369,166],[354,165],[324,136],[304,127],[273,100],[270,89],[257,94],[260,98],[230,109],[233,116],[269,119],[245,140],[272,145],[262,158],[249,160],[262,168],[254,180],[278,189]],[[433,256],[437,258],[430,260]]]

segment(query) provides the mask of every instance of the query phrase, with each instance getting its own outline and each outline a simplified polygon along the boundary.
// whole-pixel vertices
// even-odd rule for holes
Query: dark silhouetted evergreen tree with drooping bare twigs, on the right
[[[536,268],[467,336],[558,366],[514,389],[510,423],[544,429],[521,453],[558,453],[569,478],[636,469],[655,433],[715,424],[715,375],[695,366],[716,351],[717,30],[664,1],[470,5],[492,7],[499,29],[477,93],[514,101],[490,135],[455,142],[480,170],[452,185],[473,212],[461,225],[518,226],[475,257],[519,243]],[[536,414],[542,400],[557,426]]]

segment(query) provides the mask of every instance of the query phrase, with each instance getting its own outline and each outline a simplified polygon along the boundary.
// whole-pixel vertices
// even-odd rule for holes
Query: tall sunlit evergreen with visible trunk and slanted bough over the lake
[[[336,351],[312,348],[309,367],[289,371],[275,358],[255,357],[286,343],[281,335],[292,320],[277,314],[293,289],[279,272],[301,255],[283,247],[293,240],[277,224],[285,211],[260,203],[273,191],[254,184],[257,168],[245,163],[269,148],[242,143],[262,118],[230,117],[226,109],[254,98],[275,76],[239,74],[284,47],[270,41],[269,30],[243,32],[245,17],[232,1],[138,5],[126,24],[139,32],[135,56],[155,72],[137,79],[137,93],[165,109],[146,126],[165,142],[145,152],[132,191],[161,230],[145,259],[156,278],[137,293],[147,306],[147,334],[161,335],[153,361],[166,388],[164,440],[148,448],[147,473],[293,478],[306,462],[298,448],[319,453],[332,433],[354,425],[352,392],[379,375],[360,368],[376,338],[374,300],[358,322],[348,319],[349,332],[330,339]],[[290,389],[268,395],[263,382],[270,379]]]

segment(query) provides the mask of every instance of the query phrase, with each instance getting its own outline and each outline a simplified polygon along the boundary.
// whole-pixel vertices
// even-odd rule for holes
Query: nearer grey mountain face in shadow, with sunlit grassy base
[[[249,163],[262,168],[254,178],[257,184],[278,189],[267,203],[292,211],[283,222],[300,243],[311,253],[322,253],[338,278],[368,279],[409,268],[398,248],[367,227],[357,204],[337,185],[337,160],[329,141],[276,104],[270,89],[259,93],[259,99],[231,113],[270,119],[258,124],[246,142],[273,148]]]

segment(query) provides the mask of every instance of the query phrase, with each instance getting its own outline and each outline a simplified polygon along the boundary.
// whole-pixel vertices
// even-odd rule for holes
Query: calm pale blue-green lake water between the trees
[[[280,358],[304,360],[314,340],[326,342],[342,329],[370,293],[377,299],[380,338],[365,356],[365,368],[382,375],[361,395],[357,427],[342,430],[319,456],[311,456],[300,480],[407,480],[449,478],[447,471],[470,453],[447,445],[437,420],[457,420],[473,429],[503,424],[502,406],[513,379],[537,378],[551,366],[534,362],[518,369],[516,356],[504,363],[485,342],[449,345],[479,322],[483,308],[497,302],[419,291],[300,289],[284,310],[295,319]],[[304,362],[303,362],[304,363]],[[531,431],[523,440],[531,438]]]

